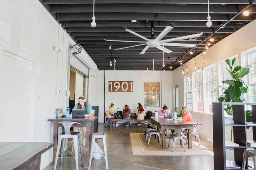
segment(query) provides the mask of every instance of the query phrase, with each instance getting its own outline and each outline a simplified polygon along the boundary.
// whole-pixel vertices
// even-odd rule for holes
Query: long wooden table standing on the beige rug
[[[188,148],[192,148],[192,140],[191,140],[191,129],[195,123],[183,121],[182,119],[179,120],[171,120],[167,118],[150,118],[152,124],[160,127],[162,129],[162,146],[165,146],[165,129],[181,129],[185,128],[188,129]]]

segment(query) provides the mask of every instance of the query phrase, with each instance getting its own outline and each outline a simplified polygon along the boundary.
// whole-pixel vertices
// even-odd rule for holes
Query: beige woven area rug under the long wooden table
[[[149,145],[145,140],[144,133],[130,133],[131,146],[133,155],[144,155],[144,156],[213,156],[213,145],[211,142],[200,138],[201,147],[199,147],[197,139],[192,137],[192,149],[188,149],[188,146],[180,148],[179,140],[176,141],[174,152],[172,152],[173,140],[170,140],[170,146],[167,149],[163,149],[160,143],[154,135],[151,136]],[[162,140],[162,139],[161,139]],[[165,137],[166,147],[168,146],[169,138]]]

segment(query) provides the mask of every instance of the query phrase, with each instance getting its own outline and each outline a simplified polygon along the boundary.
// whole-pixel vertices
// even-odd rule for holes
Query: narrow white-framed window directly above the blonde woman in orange
[[[191,75],[187,75],[184,78],[185,78],[184,91],[185,91],[186,106],[189,110],[192,110],[192,78],[191,78]]]

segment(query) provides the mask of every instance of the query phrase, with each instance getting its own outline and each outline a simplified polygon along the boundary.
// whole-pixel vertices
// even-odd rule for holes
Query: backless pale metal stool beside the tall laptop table
[[[106,139],[106,133],[93,133],[91,138],[91,151],[90,151],[90,159],[89,159],[89,168],[91,168],[91,159],[92,159],[92,152],[94,148],[94,142],[95,139],[103,139],[103,146],[104,146],[104,155],[105,155],[105,161],[106,161],[106,167],[108,170],[108,154],[107,154],[107,139]]]

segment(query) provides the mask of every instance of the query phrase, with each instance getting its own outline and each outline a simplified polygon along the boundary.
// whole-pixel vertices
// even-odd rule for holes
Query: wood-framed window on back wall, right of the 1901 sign
[[[144,106],[160,107],[160,83],[144,83]]]

